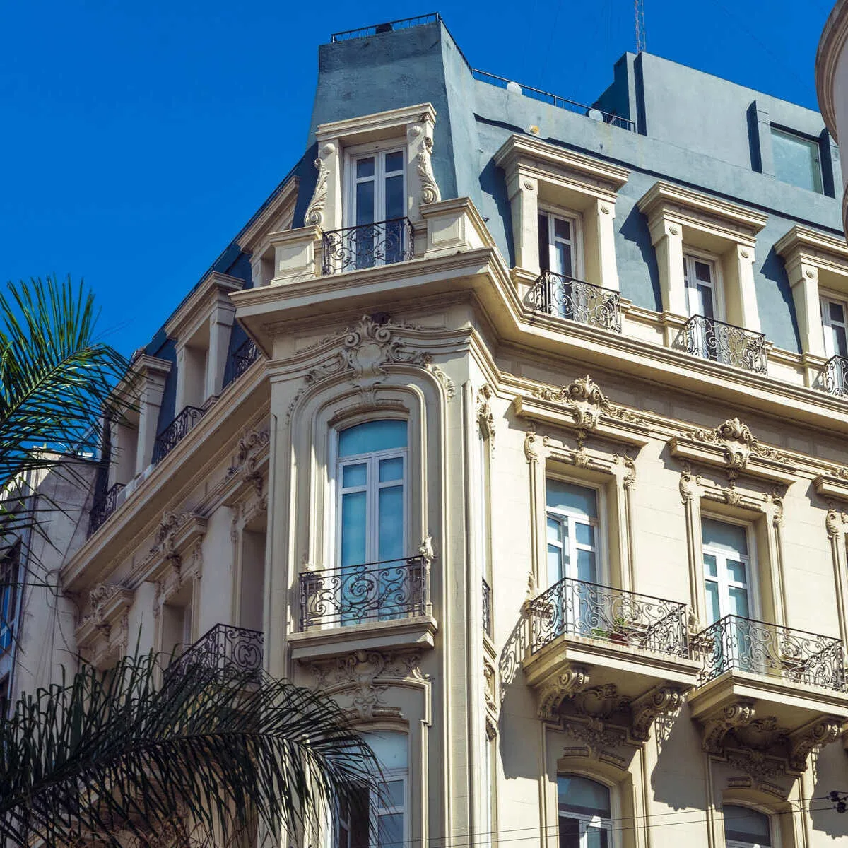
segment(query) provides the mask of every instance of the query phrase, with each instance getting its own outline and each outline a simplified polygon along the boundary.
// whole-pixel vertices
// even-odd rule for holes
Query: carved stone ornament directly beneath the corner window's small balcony
[[[357,650],[335,660],[311,666],[315,689],[327,695],[350,696],[350,711],[362,720],[399,716],[397,707],[387,706],[382,694],[392,683],[414,678],[427,680],[421,673],[418,654],[387,654],[379,650]]]

